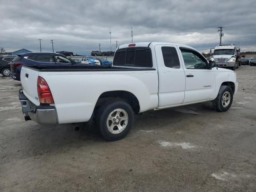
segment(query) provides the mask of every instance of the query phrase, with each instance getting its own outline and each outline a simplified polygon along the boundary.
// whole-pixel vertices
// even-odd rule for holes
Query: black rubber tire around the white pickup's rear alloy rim
[[[127,122],[120,120],[120,126],[125,126],[124,124],[126,123],[124,130],[122,130],[120,133],[118,133],[118,127],[117,127],[119,126],[119,122],[118,122],[118,125],[114,125],[114,124],[117,124],[116,121],[108,120],[111,113],[114,110],[118,110],[118,109],[124,110],[126,112],[126,115],[128,116]],[[121,113],[122,112],[120,112],[120,114]],[[112,117],[116,118],[117,116],[115,116],[114,114],[114,116]],[[118,120],[118,118],[116,118],[116,120]],[[96,117],[95,117],[96,125],[99,128],[100,134],[104,139],[108,141],[116,141],[124,138],[132,128],[133,120],[134,120],[134,112],[132,110],[132,107],[124,100],[111,100],[109,102],[106,102],[105,104],[100,106],[100,108],[97,110]],[[108,130],[107,122],[109,124],[108,126],[111,126],[111,125],[114,126],[112,131],[115,132],[115,134],[110,132],[110,130]]]

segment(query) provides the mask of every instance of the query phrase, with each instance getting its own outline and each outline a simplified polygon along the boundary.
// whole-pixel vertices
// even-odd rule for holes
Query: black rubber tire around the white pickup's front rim
[[[222,97],[224,96],[224,94],[226,94],[226,92],[228,92],[228,94],[230,94],[230,102],[227,106],[224,106],[224,104],[222,102]],[[220,86],[218,96],[216,97],[215,100],[213,100],[214,108],[217,111],[224,112],[224,111],[229,110],[230,106],[232,105],[232,102],[233,102],[233,91],[230,88],[230,86],[226,86],[226,85]]]

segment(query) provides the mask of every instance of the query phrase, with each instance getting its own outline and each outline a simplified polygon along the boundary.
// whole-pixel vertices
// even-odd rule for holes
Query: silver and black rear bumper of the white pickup
[[[22,113],[31,120],[42,125],[57,124],[57,113],[54,106],[36,106],[22,92],[19,91],[19,99],[22,105]]]

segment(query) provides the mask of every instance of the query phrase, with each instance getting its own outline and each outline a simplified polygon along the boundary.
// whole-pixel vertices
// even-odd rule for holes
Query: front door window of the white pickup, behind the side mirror
[[[181,49],[181,53],[187,69],[207,69],[206,61],[204,61],[196,52]]]

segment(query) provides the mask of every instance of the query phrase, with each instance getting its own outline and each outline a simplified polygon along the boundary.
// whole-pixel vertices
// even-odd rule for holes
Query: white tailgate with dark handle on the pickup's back
[[[22,66],[20,81],[24,95],[35,105],[40,105],[37,94],[37,78],[39,71]]]

